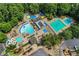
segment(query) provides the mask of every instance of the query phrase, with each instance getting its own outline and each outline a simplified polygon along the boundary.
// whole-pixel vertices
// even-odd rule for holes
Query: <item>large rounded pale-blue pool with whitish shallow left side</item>
[[[34,33],[34,28],[32,27],[32,25],[30,23],[26,23],[26,24],[22,25],[22,27],[20,29],[20,33],[32,35]]]

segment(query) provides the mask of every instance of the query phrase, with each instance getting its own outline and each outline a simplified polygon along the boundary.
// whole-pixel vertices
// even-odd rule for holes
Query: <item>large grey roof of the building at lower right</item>
[[[71,39],[71,40],[65,40],[64,43],[62,43],[60,49],[69,48],[74,49],[74,46],[79,47],[79,39]]]

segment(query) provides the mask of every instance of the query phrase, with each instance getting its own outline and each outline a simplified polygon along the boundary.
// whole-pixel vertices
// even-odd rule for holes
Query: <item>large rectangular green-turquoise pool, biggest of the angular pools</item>
[[[65,27],[65,24],[60,21],[60,19],[56,19],[54,22],[50,22],[50,26],[54,31],[59,32],[61,29]]]

